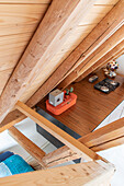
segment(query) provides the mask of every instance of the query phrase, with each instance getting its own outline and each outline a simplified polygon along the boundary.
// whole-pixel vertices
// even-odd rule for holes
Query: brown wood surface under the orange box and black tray
[[[61,115],[55,116],[46,111],[45,101],[38,106],[80,136],[91,132],[124,100],[124,77],[117,75],[115,80],[121,85],[114,92],[104,94],[93,89],[97,82],[105,78],[102,71],[97,74],[99,80],[94,83],[89,83],[87,77],[72,84],[78,95],[77,104]]]

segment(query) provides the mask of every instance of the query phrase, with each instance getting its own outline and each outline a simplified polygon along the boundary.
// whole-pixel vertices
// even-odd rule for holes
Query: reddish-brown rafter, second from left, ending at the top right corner
[[[57,70],[47,79],[40,90],[27,101],[32,107],[48,94],[59,82],[88,58],[101,44],[103,44],[124,21],[124,0],[106,14],[94,30],[80,43],[80,45],[67,57]]]

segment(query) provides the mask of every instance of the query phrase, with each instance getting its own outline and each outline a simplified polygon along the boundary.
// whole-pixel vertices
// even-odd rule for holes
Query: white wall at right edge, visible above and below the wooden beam
[[[124,117],[124,101],[97,127],[101,128]],[[116,172],[111,186],[124,186],[124,144],[99,152],[101,156],[115,165]]]

